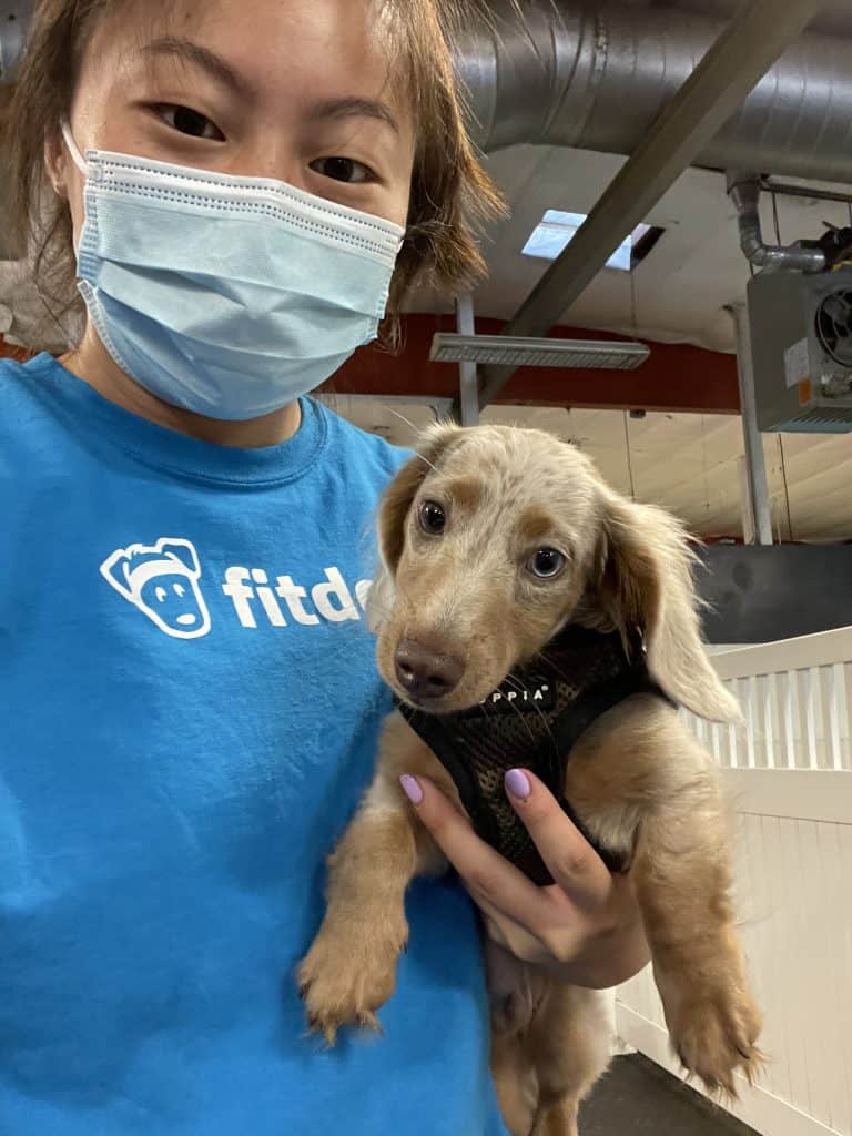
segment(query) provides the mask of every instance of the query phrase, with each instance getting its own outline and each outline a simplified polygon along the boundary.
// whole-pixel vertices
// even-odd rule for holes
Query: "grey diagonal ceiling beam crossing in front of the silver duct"
[[[506,326],[506,335],[546,335],[825,7],[826,0],[744,0]],[[513,373],[512,367],[481,368],[479,406],[493,401]]]

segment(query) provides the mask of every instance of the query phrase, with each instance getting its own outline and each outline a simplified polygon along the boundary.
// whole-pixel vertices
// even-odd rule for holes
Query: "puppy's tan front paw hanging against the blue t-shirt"
[[[408,928],[377,939],[374,929],[335,934],[325,925],[299,967],[299,991],[311,1033],[334,1045],[343,1026],[378,1030],[376,1010],[393,993]]]

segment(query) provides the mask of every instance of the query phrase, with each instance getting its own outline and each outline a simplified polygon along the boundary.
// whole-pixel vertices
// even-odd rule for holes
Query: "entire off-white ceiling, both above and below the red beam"
[[[621,0],[625,2],[625,0]],[[738,0],[633,0],[634,7],[679,8],[730,16]],[[815,30],[852,37],[852,3],[833,3]],[[507,197],[511,217],[485,232],[488,279],[475,294],[477,314],[510,318],[548,267],[520,254],[546,209],[588,212],[626,159],[550,147],[517,147],[486,159]],[[785,178],[786,182],[793,181]],[[803,187],[852,186],[799,183]],[[782,243],[816,237],[824,222],[849,225],[846,204],[813,198],[765,197],[761,214],[767,241],[775,240],[775,210]],[[736,217],[719,173],[687,170],[645,218],[666,232],[632,274],[605,269],[560,323],[636,334],[662,342],[687,342],[734,351],[726,306],[744,300],[749,279]],[[445,298],[424,290],[412,311],[451,311]],[[684,383],[690,382],[688,374]],[[411,444],[417,426],[433,412],[417,404],[335,400],[358,425],[399,444]],[[540,426],[573,437],[598,462],[616,488],[661,504],[704,537],[743,533],[744,458],[738,418],[649,414],[632,419],[620,411],[534,410],[490,407],[485,421]],[[766,435],[765,451],[776,538],[852,540],[852,436]]]

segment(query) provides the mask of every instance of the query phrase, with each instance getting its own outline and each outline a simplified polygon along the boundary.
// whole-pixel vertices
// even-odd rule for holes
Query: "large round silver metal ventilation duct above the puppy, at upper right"
[[[458,68],[486,151],[517,143],[629,154],[724,24],[670,7],[492,0]],[[698,165],[852,181],[852,41],[804,36]]]

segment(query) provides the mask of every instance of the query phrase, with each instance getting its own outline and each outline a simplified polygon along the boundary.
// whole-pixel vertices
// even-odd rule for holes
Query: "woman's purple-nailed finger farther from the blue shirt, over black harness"
[[[554,882],[580,910],[603,907],[612,892],[609,868],[548,787],[528,770],[511,769],[506,792]]]

